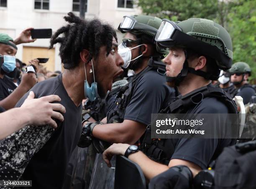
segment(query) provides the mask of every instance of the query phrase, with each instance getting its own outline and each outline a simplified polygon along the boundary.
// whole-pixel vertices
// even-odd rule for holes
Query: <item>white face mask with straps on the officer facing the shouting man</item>
[[[143,44],[141,44],[143,45]],[[138,58],[140,58],[141,56],[143,56],[143,54],[139,55],[138,57],[134,58],[133,60],[131,60],[132,54],[131,54],[131,50],[134,48],[138,48],[141,45],[138,45],[136,47],[133,48],[129,48],[129,47],[125,47],[123,45],[123,43],[121,43],[118,46],[118,53],[120,54],[120,56],[123,58],[124,64],[123,64],[123,68],[128,68],[128,66],[130,65],[131,61],[136,60]]]

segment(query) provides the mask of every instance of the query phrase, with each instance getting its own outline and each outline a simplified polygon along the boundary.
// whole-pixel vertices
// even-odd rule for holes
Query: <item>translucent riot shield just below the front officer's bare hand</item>
[[[109,168],[103,161],[102,154],[97,154],[89,189],[114,189],[115,156],[111,159]]]

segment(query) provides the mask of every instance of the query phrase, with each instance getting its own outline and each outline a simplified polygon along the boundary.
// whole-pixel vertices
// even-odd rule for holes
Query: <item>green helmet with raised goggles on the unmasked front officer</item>
[[[155,40],[164,47],[179,44],[197,53],[208,55],[224,71],[231,68],[232,40],[227,30],[212,20],[190,18],[175,23],[164,19]]]

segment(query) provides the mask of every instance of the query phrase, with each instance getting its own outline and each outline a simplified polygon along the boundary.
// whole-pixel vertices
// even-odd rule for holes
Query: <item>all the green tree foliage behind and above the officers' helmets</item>
[[[233,40],[233,62],[248,63],[256,78],[256,0],[137,0],[146,15],[182,21],[188,18],[214,20],[228,30]]]

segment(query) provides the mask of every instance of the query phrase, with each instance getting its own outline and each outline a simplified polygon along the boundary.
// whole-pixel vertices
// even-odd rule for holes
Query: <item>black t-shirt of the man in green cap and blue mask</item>
[[[0,78],[0,101],[12,93],[17,86],[7,77]]]

